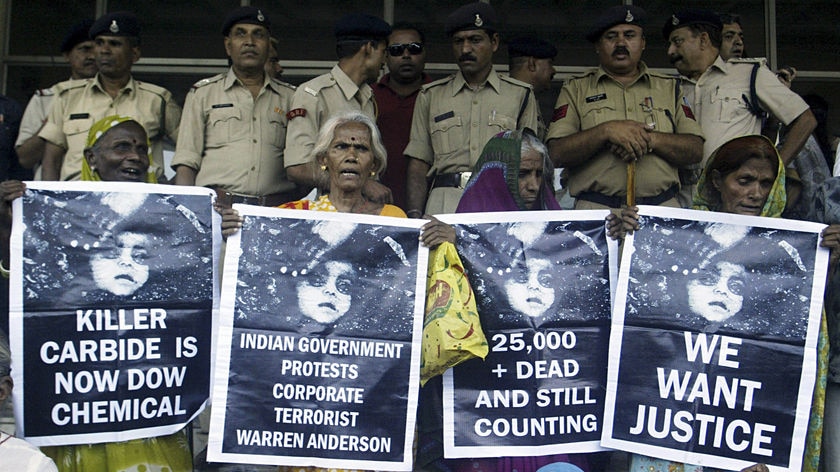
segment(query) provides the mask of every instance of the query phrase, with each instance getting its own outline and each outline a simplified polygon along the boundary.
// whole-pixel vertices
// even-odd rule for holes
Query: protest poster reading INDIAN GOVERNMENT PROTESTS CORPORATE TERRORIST
[[[208,460],[411,470],[424,221],[235,208]]]

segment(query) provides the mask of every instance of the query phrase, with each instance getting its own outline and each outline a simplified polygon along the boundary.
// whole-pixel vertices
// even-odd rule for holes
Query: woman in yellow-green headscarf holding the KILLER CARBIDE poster
[[[91,127],[88,133],[85,160],[82,161],[82,180],[114,182],[156,182],[149,172],[152,156],[149,154],[146,130],[133,119],[108,116]],[[0,195],[5,202],[3,224],[0,228],[5,239],[0,244],[3,261],[8,261],[8,232],[11,228],[11,202],[23,195],[26,186],[19,181],[0,183]],[[55,460],[60,471],[112,471],[112,470],[169,470],[191,471],[192,455],[185,430],[156,438],[131,441],[86,444],[76,446],[50,446],[42,450]]]

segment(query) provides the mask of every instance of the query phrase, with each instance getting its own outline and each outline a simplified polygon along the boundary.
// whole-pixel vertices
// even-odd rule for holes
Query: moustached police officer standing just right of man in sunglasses
[[[491,137],[507,130],[537,131],[531,87],[493,69],[497,26],[495,10],[482,2],[464,5],[446,20],[459,70],[425,85],[417,97],[404,152],[409,217],[419,218],[424,210],[453,213]]]

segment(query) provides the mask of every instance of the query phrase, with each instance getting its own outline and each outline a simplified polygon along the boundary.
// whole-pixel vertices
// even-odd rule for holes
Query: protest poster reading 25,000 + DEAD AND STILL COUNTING
[[[444,215],[490,353],[443,378],[444,455],[601,450],[610,279],[607,211]]]

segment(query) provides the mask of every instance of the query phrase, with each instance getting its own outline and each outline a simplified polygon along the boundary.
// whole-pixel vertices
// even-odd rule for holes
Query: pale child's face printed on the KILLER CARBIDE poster
[[[116,247],[90,260],[93,281],[102,290],[128,296],[149,280],[149,237],[140,233],[122,233]]]

